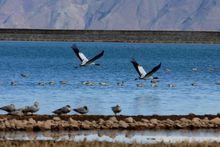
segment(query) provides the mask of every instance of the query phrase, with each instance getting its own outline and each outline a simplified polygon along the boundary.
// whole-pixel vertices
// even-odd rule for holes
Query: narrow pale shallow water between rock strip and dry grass
[[[160,143],[181,141],[220,142],[215,130],[178,131],[62,131],[62,132],[0,132],[0,140],[107,141],[123,143]]]

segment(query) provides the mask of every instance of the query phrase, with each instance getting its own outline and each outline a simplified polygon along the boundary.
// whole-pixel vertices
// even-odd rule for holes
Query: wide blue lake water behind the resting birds
[[[220,81],[220,45],[76,43],[87,57],[100,50],[105,54],[96,62],[100,67],[75,68],[79,60],[72,44],[0,42],[0,105],[21,107],[37,100],[39,114],[51,114],[66,104],[74,108],[87,105],[89,114],[112,114],[110,107],[116,104],[121,105],[124,115],[220,112],[220,85],[215,84]],[[138,74],[131,58],[147,71],[162,62],[155,74],[160,79],[158,87],[151,87],[150,80],[134,80]],[[198,71],[192,71],[195,67]],[[20,73],[29,76],[23,78]],[[61,85],[61,80],[68,84]],[[17,85],[11,86],[11,81]],[[39,86],[41,81],[56,84]],[[86,86],[83,81],[107,82],[109,86]],[[125,86],[117,86],[119,81],[125,81]],[[193,82],[198,86],[191,86]],[[145,87],[137,87],[138,83],[145,83]],[[168,87],[170,83],[176,87]]]

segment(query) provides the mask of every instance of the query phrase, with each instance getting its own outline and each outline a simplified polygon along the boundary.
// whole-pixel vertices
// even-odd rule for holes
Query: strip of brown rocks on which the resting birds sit
[[[219,129],[220,115],[0,115],[0,131]]]

